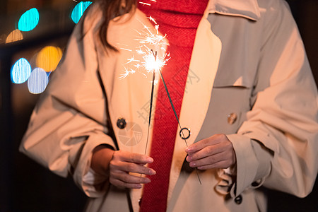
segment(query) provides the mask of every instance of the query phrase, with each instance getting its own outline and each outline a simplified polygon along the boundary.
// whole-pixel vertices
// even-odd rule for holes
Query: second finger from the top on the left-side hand
[[[122,172],[134,172],[143,175],[155,175],[155,170],[136,163],[127,163],[122,161],[111,161],[110,170],[120,170]]]

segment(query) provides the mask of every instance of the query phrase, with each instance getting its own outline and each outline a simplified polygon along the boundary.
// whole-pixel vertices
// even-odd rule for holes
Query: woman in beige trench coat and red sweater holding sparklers
[[[150,125],[147,50],[167,62]],[[285,1],[100,1],[20,150],[73,175],[87,211],[266,211],[261,186],[311,192],[317,131],[317,88]]]

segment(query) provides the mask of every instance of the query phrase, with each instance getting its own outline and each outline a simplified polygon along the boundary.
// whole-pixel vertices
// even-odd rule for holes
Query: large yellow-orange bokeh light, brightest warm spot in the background
[[[57,69],[57,64],[59,64],[62,54],[63,53],[59,47],[44,47],[37,54],[37,67],[42,68],[47,72],[54,71]]]

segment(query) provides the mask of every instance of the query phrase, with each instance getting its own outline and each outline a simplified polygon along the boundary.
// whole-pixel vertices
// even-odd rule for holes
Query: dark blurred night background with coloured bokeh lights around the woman
[[[318,0],[289,0],[318,80]],[[35,102],[91,1],[1,0],[0,212],[83,211],[86,196],[18,152]],[[269,192],[269,211],[318,211],[318,186],[305,199]]]

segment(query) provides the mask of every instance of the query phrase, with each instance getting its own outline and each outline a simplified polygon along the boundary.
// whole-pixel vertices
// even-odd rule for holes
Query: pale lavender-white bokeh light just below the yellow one
[[[41,68],[35,68],[28,79],[28,89],[30,93],[42,93],[47,88],[49,83],[49,76],[47,72]]]

